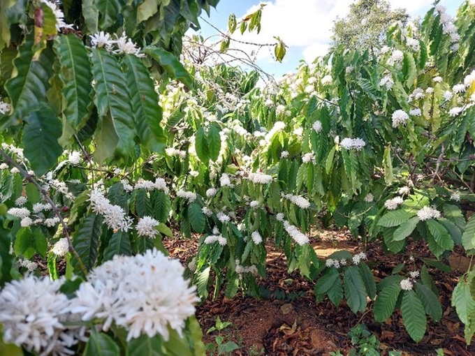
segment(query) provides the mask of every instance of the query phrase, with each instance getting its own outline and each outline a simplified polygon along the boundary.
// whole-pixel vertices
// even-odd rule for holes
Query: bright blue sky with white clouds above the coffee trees
[[[264,1],[263,1],[264,2]],[[274,61],[270,49],[263,48],[258,53],[258,66],[277,77],[295,71],[301,59],[310,62],[326,53],[330,42],[333,20],[337,16],[344,17],[348,13],[349,3],[353,0],[272,0],[263,9],[261,34],[244,34],[236,36],[240,40],[257,43],[273,43],[273,36],[279,36],[288,45],[287,54],[282,64]],[[432,7],[432,0],[389,0],[393,8],[403,7],[411,17],[423,16]],[[441,0],[447,13],[455,15],[457,8],[464,0]],[[215,27],[226,31],[228,15],[235,13],[240,18],[256,10],[261,1],[256,0],[221,0],[211,17],[203,14]],[[201,21],[200,34],[204,37],[217,34],[205,22]],[[235,34],[237,34],[236,31]],[[234,37],[234,36],[233,36]],[[253,48],[241,47],[246,52]]]

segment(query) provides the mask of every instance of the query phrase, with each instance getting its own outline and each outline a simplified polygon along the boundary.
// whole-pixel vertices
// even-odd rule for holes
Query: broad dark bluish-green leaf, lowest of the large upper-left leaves
[[[36,176],[41,177],[58,162],[63,149],[58,143],[61,136],[61,122],[49,107],[41,107],[24,118],[22,142],[24,156],[28,158]]]

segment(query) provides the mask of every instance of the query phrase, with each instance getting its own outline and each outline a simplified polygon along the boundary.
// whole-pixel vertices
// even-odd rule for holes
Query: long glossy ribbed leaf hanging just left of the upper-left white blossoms
[[[82,40],[75,34],[57,36],[54,40],[61,70],[59,78],[63,82],[63,95],[66,106],[63,114],[68,124],[78,131],[89,118],[91,99],[91,64]]]

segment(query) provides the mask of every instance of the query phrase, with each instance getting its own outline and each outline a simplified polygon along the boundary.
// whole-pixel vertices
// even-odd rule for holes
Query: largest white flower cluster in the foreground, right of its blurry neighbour
[[[103,320],[128,330],[127,341],[141,334],[168,340],[169,328],[180,335],[198,302],[196,286],[183,279],[184,267],[156,249],[118,256],[96,267],[71,300],[82,320]]]

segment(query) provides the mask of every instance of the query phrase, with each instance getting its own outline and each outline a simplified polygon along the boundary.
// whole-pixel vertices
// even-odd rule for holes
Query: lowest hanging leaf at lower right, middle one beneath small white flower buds
[[[404,290],[401,302],[402,321],[409,336],[416,342],[422,340],[425,334],[427,318],[424,306],[414,290]]]

